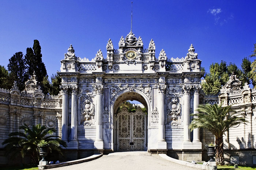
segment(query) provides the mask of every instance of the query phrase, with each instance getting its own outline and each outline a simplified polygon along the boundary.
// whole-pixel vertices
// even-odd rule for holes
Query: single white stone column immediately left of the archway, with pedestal
[[[96,91],[96,140],[94,142],[95,149],[103,149],[102,140],[102,112],[103,112],[103,86],[95,85]]]

